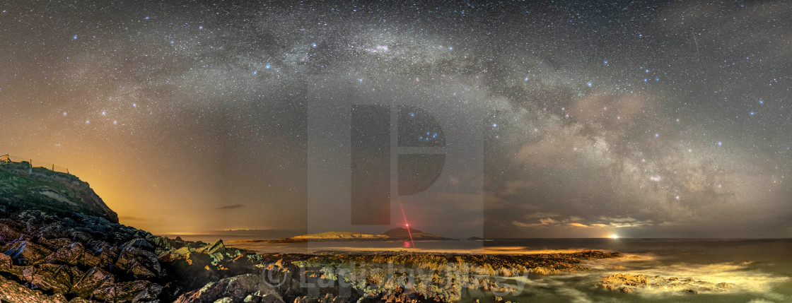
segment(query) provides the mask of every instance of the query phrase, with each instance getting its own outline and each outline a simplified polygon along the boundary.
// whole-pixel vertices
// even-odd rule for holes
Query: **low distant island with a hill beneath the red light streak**
[[[412,239],[410,234],[412,233]],[[268,242],[268,243],[299,243],[299,242],[364,242],[364,241],[457,241],[447,237],[440,237],[418,229],[398,227],[385,233],[355,233],[355,232],[327,232],[311,233],[284,239],[275,240],[242,240],[239,242]]]

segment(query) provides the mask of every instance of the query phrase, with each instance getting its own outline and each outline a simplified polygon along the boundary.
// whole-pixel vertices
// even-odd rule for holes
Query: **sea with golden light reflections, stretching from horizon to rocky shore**
[[[183,237],[210,242],[211,237]],[[216,239],[215,239],[216,240]],[[225,239],[224,239],[225,240]],[[495,239],[488,241],[319,242],[297,244],[238,243],[250,251],[305,253],[417,251],[476,254],[529,254],[604,250],[623,258],[584,261],[592,271],[561,275],[500,277],[516,292],[502,294],[512,302],[792,302],[792,239]],[[682,286],[644,287],[626,294],[596,286],[603,277],[644,275],[649,281],[676,278]],[[686,290],[727,283],[725,289]],[[699,289],[700,290],[700,289]],[[493,294],[469,294],[463,303],[492,301]]]

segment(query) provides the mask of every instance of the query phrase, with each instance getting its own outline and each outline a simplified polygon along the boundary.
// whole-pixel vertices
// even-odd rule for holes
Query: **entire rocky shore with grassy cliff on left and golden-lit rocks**
[[[2,302],[455,301],[516,291],[494,277],[586,271],[584,259],[618,256],[259,255],[120,225],[76,177],[0,163]]]

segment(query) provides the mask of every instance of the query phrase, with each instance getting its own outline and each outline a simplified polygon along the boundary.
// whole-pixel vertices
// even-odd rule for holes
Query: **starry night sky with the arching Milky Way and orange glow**
[[[306,230],[349,157],[309,117],[401,94],[482,139],[417,229],[792,237],[790,2],[38,3],[0,6],[0,153],[126,225]]]

